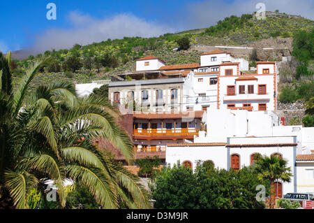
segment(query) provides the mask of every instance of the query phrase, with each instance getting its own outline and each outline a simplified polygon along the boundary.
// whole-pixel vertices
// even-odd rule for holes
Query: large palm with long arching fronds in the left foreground
[[[119,113],[107,99],[77,98],[73,85],[66,82],[39,86],[27,95],[31,80],[46,61],[36,59],[17,89],[0,98],[0,111],[6,112],[1,113],[0,138],[5,139],[1,152],[6,154],[1,160],[13,157],[12,162],[1,163],[1,185],[16,208],[28,208],[31,189],[42,189],[48,179],[57,185],[59,202],[65,207],[66,178],[85,185],[103,208],[119,208],[119,201],[129,208],[149,208],[139,178],[94,145],[94,138],[106,138],[128,163],[133,162],[133,145],[117,125]],[[12,102],[6,104],[8,99]]]

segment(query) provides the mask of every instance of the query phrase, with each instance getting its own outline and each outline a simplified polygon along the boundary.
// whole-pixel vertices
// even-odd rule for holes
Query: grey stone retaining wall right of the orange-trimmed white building
[[[285,117],[285,125],[302,124],[305,116],[304,101],[296,101],[294,103],[277,103],[276,115]]]

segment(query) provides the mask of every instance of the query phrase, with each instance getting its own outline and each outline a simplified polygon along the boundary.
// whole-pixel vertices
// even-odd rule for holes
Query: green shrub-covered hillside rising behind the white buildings
[[[266,38],[294,36],[297,31],[308,32],[313,27],[312,20],[269,12],[266,20],[257,20],[253,14],[244,14],[241,17],[232,15],[207,29],[164,34],[154,38],[107,39],[84,46],[75,44],[70,49],[46,51],[44,54],[51,55],[52,59],[40,70],[40,75],[33,80],[32,85],[52,80],[82,83],[107,79],[112,74],[135,71],[135,60],[147,55],[160,57],[167,65],[198,63],[202,52],[193,50],[195,45],[246,45],[259,43]],[[188,50],[179,48],[178,40],[183,37],[190,41],[191,48]],[[14,69],[14,82],[19,82],[24,70],[33,59],[40,56],[31,55],[27,59],[13,61],[11,67]],[[249,56],[247,58],[251,58]],[[252,65],[254,66],[254,61]]]

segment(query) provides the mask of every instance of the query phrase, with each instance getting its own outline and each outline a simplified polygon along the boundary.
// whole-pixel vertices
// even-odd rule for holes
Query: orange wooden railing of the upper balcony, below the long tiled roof
[[[133,129],[134,136],[198,136],[200,129]]]

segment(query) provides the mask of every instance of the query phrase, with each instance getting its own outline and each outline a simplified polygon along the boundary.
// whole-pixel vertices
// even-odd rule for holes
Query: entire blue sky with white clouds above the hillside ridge
[[[57,20],[47,20],[47,3],[57,6]],[[1,1],[0,51],[68,48],[123,36],[159,36],[209,27],[223,17],[279,9],[313,19],[312,0],[15,0]]]

